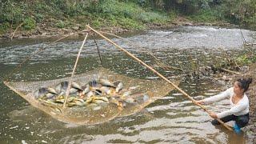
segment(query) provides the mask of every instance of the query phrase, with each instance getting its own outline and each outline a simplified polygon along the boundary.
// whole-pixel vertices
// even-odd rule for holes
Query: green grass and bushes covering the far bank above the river
[[[194,22],[231,22],[256,29],[253,0],[6,0],[0,3],[0,33],[55,28],[121,27],[142,30],[183,17]]]

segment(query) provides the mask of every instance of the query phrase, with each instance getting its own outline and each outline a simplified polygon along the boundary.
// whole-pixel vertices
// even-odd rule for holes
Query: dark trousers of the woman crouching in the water
[[[249,114],[245,114],[245,115],[239,115],[239,116],[235,116],[234,114],[232,115],[228,115],[224,118],[221,118],[222,122],[230,122],[230,121],[235,121],[235,123],[240,127],[244,127],[247,125],[247,123],[249,122]],[[214,126],[215,125],[219,125],[220,123],[217,121],[217,119],[214,119],[211,122]]]

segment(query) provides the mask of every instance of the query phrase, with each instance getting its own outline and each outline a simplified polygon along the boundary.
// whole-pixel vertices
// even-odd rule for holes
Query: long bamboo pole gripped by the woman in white
[[[100,34],[97,30],[94,30],[93,28],[91,28],[89,25],[86,25],[90,30],[93,30],[96,34],[100,35],[102,38],[105,38],[106,41],[112,43],[114,46],[118,47],[118,49],[124,51],[126,54],[128,54],[131,58],[134,58],[136,61],[140,62],[143,66],[146,66],[148,69],[152,70],[155,74],[157,74],[160,78],[164,79],[166,82],[170,83],[172,86],[175,87],[176,90],[180,91],[182,94],[184,94],[187,98],[189,98],[192,102],[194,102],[195,105],[201,107],[203,110],[206,110],[205,106],[202,106],[201,104],[197,103],[194,98],[190,97],[189,94],[186,94],[185,91],[183,91],[182,89],[180,89],[178,86],[176,86],[173,82],[170,82],[169,79],[167,79],[166,77],[164,77],[162,74],[158,73],[157,70],[154,70],[152,67],[148,66],[146,63],[142,62],[140,59],[138,59],[137,57],[135,57],[133,54],[130,54],[130,52],[128,52],[127,50],[124,50],[121,46],[118,46],[116,43],[114,43],[113,41],[111,41],[109,38],[106,38],[104,35]],[[208,114],[211,114],[209,110],[206,110],[206,112]],[[226,129],[228,130],[232,130],[229,126],[227,126],[224,122],[222,122],[221,119],[217,118],[218,122],[220,122],[223,126],[226,127]]]

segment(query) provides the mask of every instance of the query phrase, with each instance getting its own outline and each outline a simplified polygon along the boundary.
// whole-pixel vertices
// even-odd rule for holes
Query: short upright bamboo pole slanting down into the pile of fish
[[[85,37],[85,39],[83,40],[82,46],[80,47],[80,50],[79,50],[79,52],[78,52],[77,60],[76,60],[75,63],[74,63],[74,68],[73,68],[71,77],[70,77],[70,79],[69,79],[69,85],[67,86],[67,90],[66,90],[66,97],[65,97],[65,101],[64,101],[64,103],[63,103],[63,108],[65,108],[66,100],[67,100],[68,96],[70,95],[70,87],[71,87],[72,78],[74,77],[74,70],[76,69],[76,67],[77,67],[77,65],[78,65],[78,59],[79,59],[79,57],[80,57],[80,54],[81,54],[81,51],[82,51],[82,47],[83,47],[83,46],[85,45],[85,43],[86,43],[86,38],[87,38],[87,36],[88,36],[88,33],[86,33],[86,37]]]

